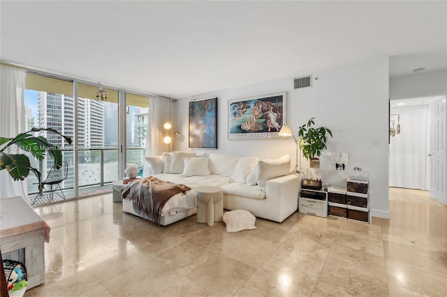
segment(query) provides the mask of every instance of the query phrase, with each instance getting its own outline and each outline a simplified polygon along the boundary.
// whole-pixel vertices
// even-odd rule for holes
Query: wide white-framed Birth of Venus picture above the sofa
[[[286,114],[286,92],[228,102],[228,139],[279,138]]]

